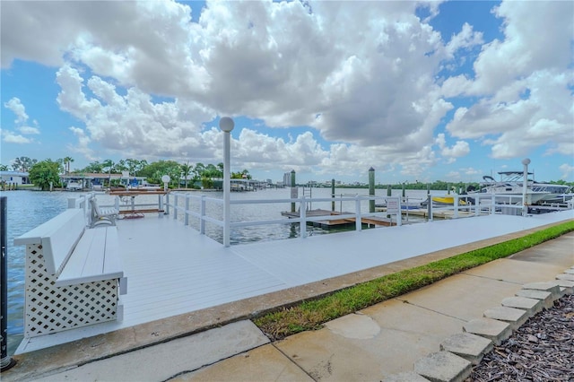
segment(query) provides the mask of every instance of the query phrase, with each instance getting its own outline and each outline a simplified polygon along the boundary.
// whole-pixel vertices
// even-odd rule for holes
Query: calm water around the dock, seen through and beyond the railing
[[[349,189],[335,188],[336,196],[367,195],[368,190],[364,188]],[[299,189],[299,195],[302,196],[302,188]],[[444,191],[432,192],[433,195],[442,195]],[[23,304],[24,304],[24,265],[25,265],[25,247],[14,246],[13,239],[23,233],[32,230],[39,224],[62,213],[67,208],[68,198],[77,197],[78,194],[70,192],[39,192],[39,191],[7,191],[2,193],[7,197],[7,254],[8,254],[8,353],[13,354],[23,337]],[[194,195],[201,195],[196,193]],[[207,197],[222,199],[222,193],[210,192],[205,193]],[[377,189],[376,195],[387,195],[387,190]],[[393,190],[393,196],[400,196],[401,190]],[[309,189],[305,196],[309,197]],[[330,198],[330,188],[312,188],[311,195],[313,198]],[[426,191],[407,191],[407,196],[413,198],[413,202],[420,202],[426,196]],[[136,203],[157,203],[157,196],[147,196],[144,200],[138,196]],[[232,193],[231,200],[254,200],[254,199],[288,199],[291,197],[289,188],[267,189],[257,192]],[[171,196],[173,202],[173,195]],[[98,195],[99,204],[113,204],[114,197],[109,195]],[[122,202],[123,203],[123,202]],[[379,203],[379,202],[377,202]],[[184,205],[180,198],[178,205]],[[299,206],[297,206],[299,207]],[[311,209],[331,210],[331,202],[313,202]],[[222,204],[207,203],[207,215],[215,219],[222,219]],[[190,210],[198,211],[198,204],[192,203]],[[335,211],[354,212],[355,205],[353,201],[335,202]],[[259,220],[278,220],[282,219],[283,211],[291,211],[290,203],[272,203],[272,204],[232,204],[230,215],[232,221],[259,221]],[[369,202],[361,203],[361,211],[369,211]],[[178,216],[181,220],[183,216]],[[199,222],[196,219],[190,220],[190,225],[196,229]],[[206,234],[219,242],[222,242],[222,229],[214,224],[206,224]],[[336,232],[337,230],[323,230],[317,227],[308,226],[305,228],[308,235],[325,234]],[[346,229],[344,229],[346,230]],[[231,244],[240,244],[260,240],[289,239],[300,236],[299,224],[272,224],[254,227],[245,227],[237,230],[231,230]]]

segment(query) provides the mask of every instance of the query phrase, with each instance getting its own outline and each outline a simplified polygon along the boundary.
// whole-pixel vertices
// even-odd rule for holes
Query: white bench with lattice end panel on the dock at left
[[[83,210],[68,209],[14,239],[26,245],[25,337],[122,319],[117,227],[85,226]]]

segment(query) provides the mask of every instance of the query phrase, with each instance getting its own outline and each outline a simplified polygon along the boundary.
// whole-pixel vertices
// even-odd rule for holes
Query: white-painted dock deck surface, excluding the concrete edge
[[[17,353],[573,219],[574,210],[497,214],[231,247],[168,215],[121,220],[124,320],[24,340]]]

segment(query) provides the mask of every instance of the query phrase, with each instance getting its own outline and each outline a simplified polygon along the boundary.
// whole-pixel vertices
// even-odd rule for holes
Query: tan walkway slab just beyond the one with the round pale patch
[[[484,309],[500,305],[500,300],[513,296],[521,288],[521,285],[512,282],[456,274],[398,299],[470,321],[483,317]]]

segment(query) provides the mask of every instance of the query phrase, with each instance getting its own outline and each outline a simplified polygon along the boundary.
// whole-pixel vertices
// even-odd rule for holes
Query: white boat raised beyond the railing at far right
[[[483,177],[484,182],[478,190],[467,189],[467,194],[494,194],[497,204],[522,204],[524,193],[524,173],[522,171],[500,171],[500,181],[495,180],[490,175]],[[529,172],[528,175],[533,175]],[[544,189],[534,188],[534,180],[527,179],[526,184],[526,204],[538,204],[544,197],[551,195],[551,192]]]

